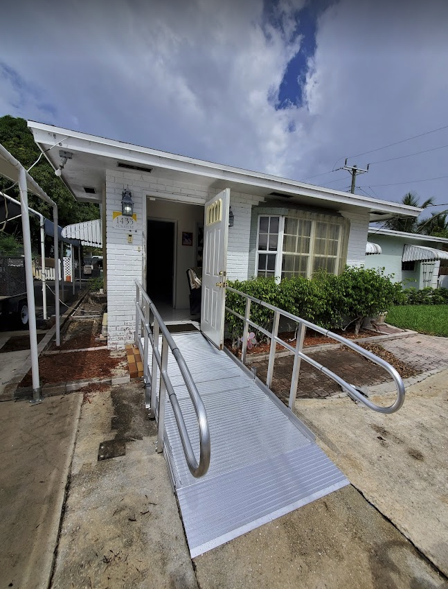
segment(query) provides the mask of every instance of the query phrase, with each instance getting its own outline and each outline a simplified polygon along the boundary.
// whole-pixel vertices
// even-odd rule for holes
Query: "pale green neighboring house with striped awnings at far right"
[[[368,249],[374,245],[380,251],[366,256],[366,268],[384,267],[386,274],[403,281],[404,288],[448,286],[448,239],[370,227]]]

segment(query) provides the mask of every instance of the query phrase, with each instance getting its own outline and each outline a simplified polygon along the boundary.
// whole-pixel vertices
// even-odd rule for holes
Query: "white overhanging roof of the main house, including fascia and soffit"
[[[150,181],[154,183],[157,179],[171,179],[206,191],[229,187],[233,191],[256,195],[260,201],[285,198],[285,202],[312,204],[336,211],[364,209],[370,213],[371,221],[387,220],[397,216],[417,217],[422,210],[414,206],[334,191],[233,166],[213,164],[35,121],[28,121],[28,127],[55,170],[60,164],[60,149],[73,153],[73,158],[67,162],[61,177],[78,200],[100,202],[106,170],[118,167],[127,173],[150,175]],[[53,148],[56,142],[57,147]],[[204,199],[197,197],[194,192],[192,188],[191,195],[183,194],[183,200],[203,204]],[[163,197],[163,191],[157,191],[156,195]]]

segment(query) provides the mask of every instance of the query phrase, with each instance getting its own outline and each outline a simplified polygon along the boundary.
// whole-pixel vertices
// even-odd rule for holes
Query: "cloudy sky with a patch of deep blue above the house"
[[[446,0],[15,0],[2,21],[0,116],[341,191],[347,158],[370,164],[357,193],[448,209]]]

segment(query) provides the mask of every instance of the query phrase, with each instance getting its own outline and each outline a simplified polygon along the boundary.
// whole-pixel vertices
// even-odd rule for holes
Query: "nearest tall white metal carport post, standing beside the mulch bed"
[[[21,227],[24,233],[26,292],[28,294],[28,323],[30,326],[31,372],[33,376],[33,401],[41,403],[39,382],[39,355],[37,353],[36,306],[34,301],[33,261],[31,258],[30,218],[28,211],[28,186],[26,185],[25,168],[19,168],[19,191],[21,207]]]

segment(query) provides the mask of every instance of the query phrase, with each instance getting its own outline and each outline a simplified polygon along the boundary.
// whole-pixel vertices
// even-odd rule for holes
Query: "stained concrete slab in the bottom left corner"
[[[82,395],[0,403],[0,587],[47,588]]]

